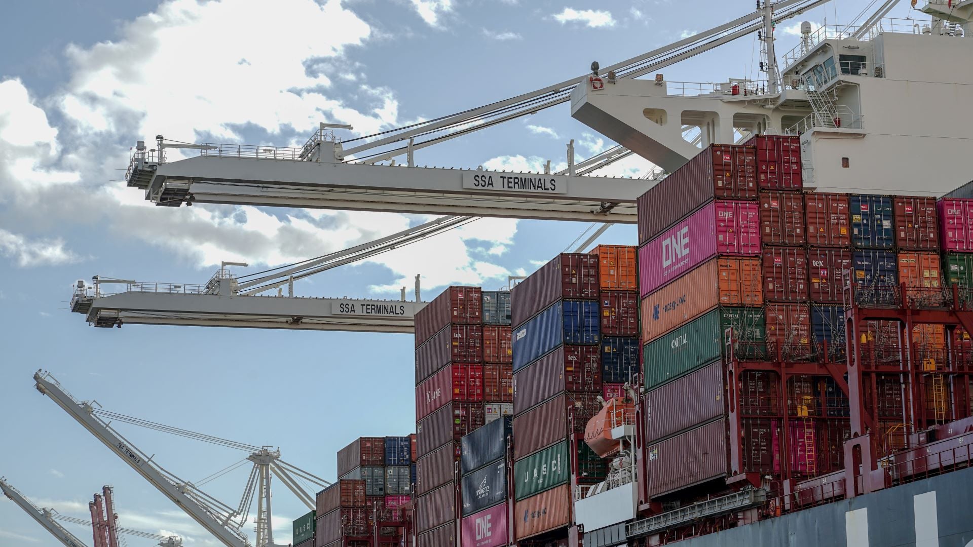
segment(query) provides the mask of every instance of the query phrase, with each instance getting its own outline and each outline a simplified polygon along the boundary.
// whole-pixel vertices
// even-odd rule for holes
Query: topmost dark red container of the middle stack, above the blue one
[[[598,256],[561,253],[510,290],[514,327],[546,310],[561,298],[597,300]]]

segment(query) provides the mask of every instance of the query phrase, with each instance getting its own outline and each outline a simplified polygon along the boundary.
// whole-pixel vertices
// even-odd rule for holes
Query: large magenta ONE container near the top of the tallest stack
[[[644,298],[717,254],[760,254],[760,205],[710,201],[638,249],[638,287]]]

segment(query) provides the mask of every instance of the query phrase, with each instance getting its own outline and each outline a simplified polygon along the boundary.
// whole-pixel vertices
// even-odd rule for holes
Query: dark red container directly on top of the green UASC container
[[[536,364],[536,363],[535,363]],[[515,375],[516,376],[516,375]],[[514,457],[521,458],[563,441],[568,433],[583,433],[588,420],[601,410],[596,393],[562,393],[523,414],[514,415]],[[573,427],[568,428],[568,413]]]

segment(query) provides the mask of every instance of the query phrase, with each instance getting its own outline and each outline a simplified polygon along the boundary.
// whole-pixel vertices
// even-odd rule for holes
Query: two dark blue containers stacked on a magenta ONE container
[[[513,419],[504,416],[464,435],[460,441],[460,537],[465,547],[509,543],[507,456],[512,433]]]

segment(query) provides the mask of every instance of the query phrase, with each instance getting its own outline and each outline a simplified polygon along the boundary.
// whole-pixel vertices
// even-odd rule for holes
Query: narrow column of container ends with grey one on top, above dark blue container
[[[510,333],[510,292],[483,291],[484,421],[514,412],[514,350]]]

